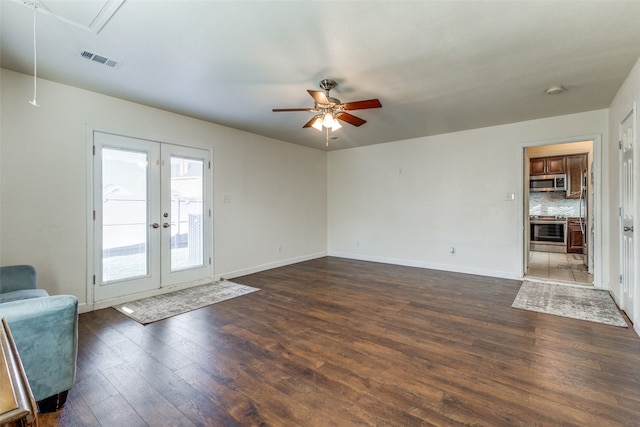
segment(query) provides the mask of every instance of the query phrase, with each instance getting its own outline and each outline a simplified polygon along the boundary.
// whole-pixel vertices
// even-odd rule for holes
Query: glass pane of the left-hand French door
[[[147,152],[102,149],[102,282],[149,274]]]

